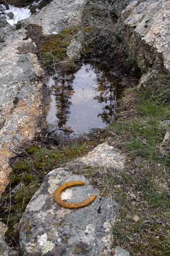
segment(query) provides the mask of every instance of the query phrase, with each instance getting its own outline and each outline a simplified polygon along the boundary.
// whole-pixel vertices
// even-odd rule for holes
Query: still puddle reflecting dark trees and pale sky
[[[84,64],[77,72],[51,76],[51,105],[47,116],[49,125],[71,126],[76,136],[92,128],[105,128],[116,115],[116,90],[120,79],[107,69]]]

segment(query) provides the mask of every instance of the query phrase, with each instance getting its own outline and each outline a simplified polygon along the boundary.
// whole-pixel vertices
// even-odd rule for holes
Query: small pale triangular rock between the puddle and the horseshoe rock
[[[91,166],[107,166],[122,169],[125,157],[107,142],[97,145],[86,156],[80,157],[79,162]]]

